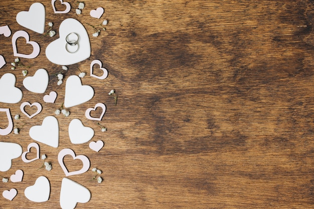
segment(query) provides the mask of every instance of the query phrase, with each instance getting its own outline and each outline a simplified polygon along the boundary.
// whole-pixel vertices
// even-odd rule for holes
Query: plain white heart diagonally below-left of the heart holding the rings
[[[24,87],[34,93],[45,93],[49,83],[49,75],[45,69],[38,69],[34,76],[23,80]]]

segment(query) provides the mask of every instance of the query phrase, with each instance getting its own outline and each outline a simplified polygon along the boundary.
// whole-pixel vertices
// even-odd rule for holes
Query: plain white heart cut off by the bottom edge
[[[90,200],[90,191],[81,184],[63,178],[60,191],[60,206],[62,209],[74,209],[76,204],[86,203]]]

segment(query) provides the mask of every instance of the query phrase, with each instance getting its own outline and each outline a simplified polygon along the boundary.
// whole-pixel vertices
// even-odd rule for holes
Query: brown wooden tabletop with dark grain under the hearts
[[[72,10],[63,15],[54,14],[49,0],[41,1],[45,30],[53,22],[57,32],[53,38],[17,24],[17,13],[34,1],[0,2],[0,26],[9,25],[12,33],[25,30],[41,46],[37,58],[21,58],[31,66],[29,76],[39,68],[50,75],[61,70],[47,60],[45,49],[59,38],[66,18],[85,26],[92,49],[89,59],[68,66],[62,85],[50,76],[45,94],[56,91],[58,97],[48,104],[45,94],[25,89],[23,68],[10,69],[12,36],[0,36],[0,54],[7,61],[0,76],[14,73],[24,93],[20,103],[0,107],[26,123],[19,135],[12,132],[1,141],[17,142],[25,151],[34,142],[30,127],[63,103],[70,75],[87,72],[82,83],[95,90],[90,101],[69,108],[69,117],[56,116],[58,148],[39,143],[51,171],[38,170],[43,160],[24,163],[19,157],[9,171],[0,172],[5,177],[17,169],[25,173],[23,182],[0,182],[0,193],[18,190],[13,201],[0,195],[0,208],[60,208],[65,174],[57,156],[63,148],[91,162],[89,171],[69,176],[92,194],[76,208],[314,208],[313,1],[84,0],[81,15],[75,14],[78,3],[69,2]],[[89,16],[97,7],[105,9],[99,20]],[[99,26],[105,19],[106,31],[93,37],[87,24]],[[25,41],[18,42],[18,49],[30,52]],[[108,69],[105,80],[89,76],[94,59]],[[116,106],[111,89],[119,95]],[[28,119],[20,111],[24,101],[40,102],[43,111]],[[84,117],[98,102],[107,107],[100,121],[107,132]],[[88,143],[71,144],[68,124],[74,118],[95,130],[92,140],[105,143],[101,151],[92,151]],[[21,121],[14,124],[20,127]],[[80,169],[77,161],[65,158],[69,170]],[[101,184],[90,181],[93,167],[103,171]],[[47,202],[34,203],[24,189],[40,175],[49,179],[51,194]]]

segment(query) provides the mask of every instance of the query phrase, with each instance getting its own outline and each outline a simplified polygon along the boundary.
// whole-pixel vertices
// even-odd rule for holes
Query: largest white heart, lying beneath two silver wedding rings
[[[76,33],[79,36],[78,50],[70,53],[66,50],[66,36]],[[73,18],[64,20],[59,27],[60,38],[51,42],[46,48],[46,57],[57,65],[72,65],[90,57],[89,37],[84,26]]]

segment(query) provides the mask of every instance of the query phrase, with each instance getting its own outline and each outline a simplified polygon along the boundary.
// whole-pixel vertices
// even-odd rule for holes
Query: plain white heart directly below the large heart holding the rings
[[[94,90],[88,85],[82,85],[78,76],[70,76],[65,84],[64,106],[73,107],[89,101],[94,96]]]

